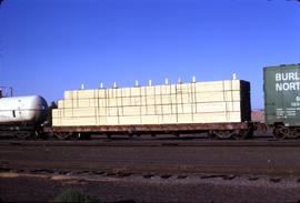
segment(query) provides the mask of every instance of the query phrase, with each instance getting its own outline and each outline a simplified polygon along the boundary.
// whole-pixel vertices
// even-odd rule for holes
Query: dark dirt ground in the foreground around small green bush
[[[2,202],[51,202],[76,189],[100,202],[298,202],[297,177],[172,175],[116,177],[0,173]]]

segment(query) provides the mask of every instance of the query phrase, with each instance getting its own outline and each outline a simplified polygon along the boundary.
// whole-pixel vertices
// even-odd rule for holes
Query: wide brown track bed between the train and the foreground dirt
[[[2,140],[0,146],[0,172],[300,176],[300,141]]]

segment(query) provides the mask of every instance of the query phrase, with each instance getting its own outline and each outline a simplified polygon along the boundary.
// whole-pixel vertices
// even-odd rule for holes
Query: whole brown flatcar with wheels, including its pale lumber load
[[[89,133],[209,133],[219,139],[251,136],[250,83],[243,80],[66,91],[44,131],[67,139]]]

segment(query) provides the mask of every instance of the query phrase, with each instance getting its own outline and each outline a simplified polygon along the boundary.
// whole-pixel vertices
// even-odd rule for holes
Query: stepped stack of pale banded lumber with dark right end
[[[242,80],[66,91],[53,126],[228,123],[251,119]]]

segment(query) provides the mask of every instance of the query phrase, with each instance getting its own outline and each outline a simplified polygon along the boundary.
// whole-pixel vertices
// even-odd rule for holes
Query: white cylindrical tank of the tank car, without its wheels
[[[0,125],[38,125],[47,112],[48,104],[40,95],[0,98]]]

